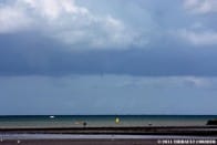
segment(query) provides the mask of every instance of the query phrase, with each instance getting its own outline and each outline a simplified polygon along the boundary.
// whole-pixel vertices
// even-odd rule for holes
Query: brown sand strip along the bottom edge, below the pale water
[[[183,143],[182,143],[183,141]],[[217,139],[7,139],[0,145],[216,145]]]

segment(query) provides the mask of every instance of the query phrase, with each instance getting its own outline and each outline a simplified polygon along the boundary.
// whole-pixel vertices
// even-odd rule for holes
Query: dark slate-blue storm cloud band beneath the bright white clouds
[[[164,40],[144,49],[73,50],[32,33],[0,35],[0,75],[217,75],[217,50]],[[73,50],[73,51],[72,51]]]

